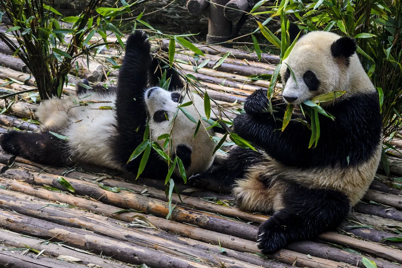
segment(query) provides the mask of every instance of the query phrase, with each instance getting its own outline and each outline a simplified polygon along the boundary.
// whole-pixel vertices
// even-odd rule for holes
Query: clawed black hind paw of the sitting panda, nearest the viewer
[[[260,225],[256,245],[263,254],[273,254],[287,246],[289,238],[285,229],[275,216]]]

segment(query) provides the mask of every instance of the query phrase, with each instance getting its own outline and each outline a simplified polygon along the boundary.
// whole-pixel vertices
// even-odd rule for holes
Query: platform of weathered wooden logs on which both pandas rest
[[[228,111],[241,107],[254,90],[268,88],[279,60],[275,55],[263,54],[258,61],[255,53],[197,47],[205,57],[194,58],[193,52],[177,47],[175,64]],[[118,72],[105,59],[119,62],[120,56],[113,48],[97,54],[96,63],[103,64],[107,75],[99,79],[116,80]],[[0,67],[0,92],[35,87],[24,65],[10,57],[0,55],[0,65],[7,66]],[[99,65],[94,66],[85,75],[99,72]],[[69,85],[64,93],[73,90]],[[0,100],[0,133],[40,131],[33,113],[38,104],[31,93]],[[263,256],[255,245],[256,234],[269,215],[241,211],[231,196],[178,185],[181,199],[173,194],[176,207],[168,220],[162,180],[132,183],[127,180],[132,174],[93,166],[43,166],[0,151],[0,267],[364,268],[364,257],[379,268],[401,268],[402,159],[394,155],[388,160],[390,178],[380,166],[363,201],[336,231]],[[59,177],[75,192],[60,184]]]

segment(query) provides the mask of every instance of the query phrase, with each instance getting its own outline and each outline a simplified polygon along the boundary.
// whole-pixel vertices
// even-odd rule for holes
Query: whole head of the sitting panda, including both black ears
[[[291,24],[291,42],[299,31],[296,25]],[[352,38],[335,33],[314,31],[300,36],[281,65],[285,102],[294,104],[294,112],[298,113],[299,104],[320,94],[343,90],[347,91],[342,97],[345,98],[359,91],[373,90],[356,55],[356,48]],[[323,102],[322,105],[330,103]]]

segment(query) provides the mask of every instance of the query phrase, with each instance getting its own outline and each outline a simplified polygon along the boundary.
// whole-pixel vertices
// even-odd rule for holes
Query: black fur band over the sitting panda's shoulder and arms
[[[267,99],[257,92],[244,103],[247,110],[260,110]],[[259,100],[260,102],[258,102]],[[246,107],[250,105],[250,107]],[[281,106],[283,107],[283,106]],[[377,93],[358,94],[326,107],[335,121],[320,117],[320,139],[316,148],[308,149],[311,131],[298,121],[290,121],[284,132],[277,130],[281,122],[270,113],[239,115],[234,120],[234,131],[286,166],[315,168],[357,166],[373,155],[381,137],[381,113]],[[284,108],[274,113],[283,118]],[[348,163],[349,159],[349,163]]]

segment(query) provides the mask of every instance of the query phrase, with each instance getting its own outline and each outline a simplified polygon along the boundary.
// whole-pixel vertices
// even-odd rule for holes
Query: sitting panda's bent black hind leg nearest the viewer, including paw
[[[335,229],[346,219],[351,207],[349,198],[341,192],[296,184],[285,190],[283,206],[258,231],[257,245],[264,254]]]

